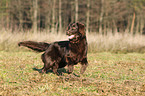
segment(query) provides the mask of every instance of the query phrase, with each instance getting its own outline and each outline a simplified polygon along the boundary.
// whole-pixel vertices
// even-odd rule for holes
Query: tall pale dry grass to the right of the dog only
[[[90,52],[145,52],[145,36],[115,33],[107,36],[89,34]]]

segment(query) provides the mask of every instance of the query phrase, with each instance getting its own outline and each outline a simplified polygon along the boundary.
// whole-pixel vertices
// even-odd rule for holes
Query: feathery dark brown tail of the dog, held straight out
[[[45,42],[24,41],[24,42],[19,42],[18,46],[25,46],[34,51],[43,52],[43,51],[47,50],[47,48],[50,46],[50,44],[45,43]]]

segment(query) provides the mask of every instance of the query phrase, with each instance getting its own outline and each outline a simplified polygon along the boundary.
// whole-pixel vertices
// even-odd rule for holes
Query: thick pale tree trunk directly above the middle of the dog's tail
[[[33,31],[34,33],[37,33],[38,0],[33,1],[33,8],[34,8]]]

